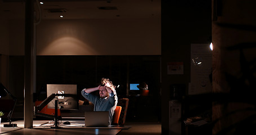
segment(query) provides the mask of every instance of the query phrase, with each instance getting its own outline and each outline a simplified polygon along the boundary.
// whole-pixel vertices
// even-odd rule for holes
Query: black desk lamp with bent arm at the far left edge
[[[6,95],[10,95],[12,97],[12,99],[14,100],[14,107],[16,105],[17,102],[17,98],[12,95],[6,88],[5,86],[3,86],[2,83],[0,83],[0,98],[1,97],[5,97]],[[17,127],[17,124],[13,124],[11,121],[11,117],[12,117],[12,113],[14,113],[14,107],[12,107],[12,110],[10,111],[10,113],[7,116],[7,120],[8,122],[10,122],[9,124],[3,124],[3,127]]]

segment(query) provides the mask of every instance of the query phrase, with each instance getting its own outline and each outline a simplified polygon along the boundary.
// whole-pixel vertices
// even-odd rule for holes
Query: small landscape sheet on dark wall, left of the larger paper
[[[167,74],[183,74],[183,62],[167,62]]]

